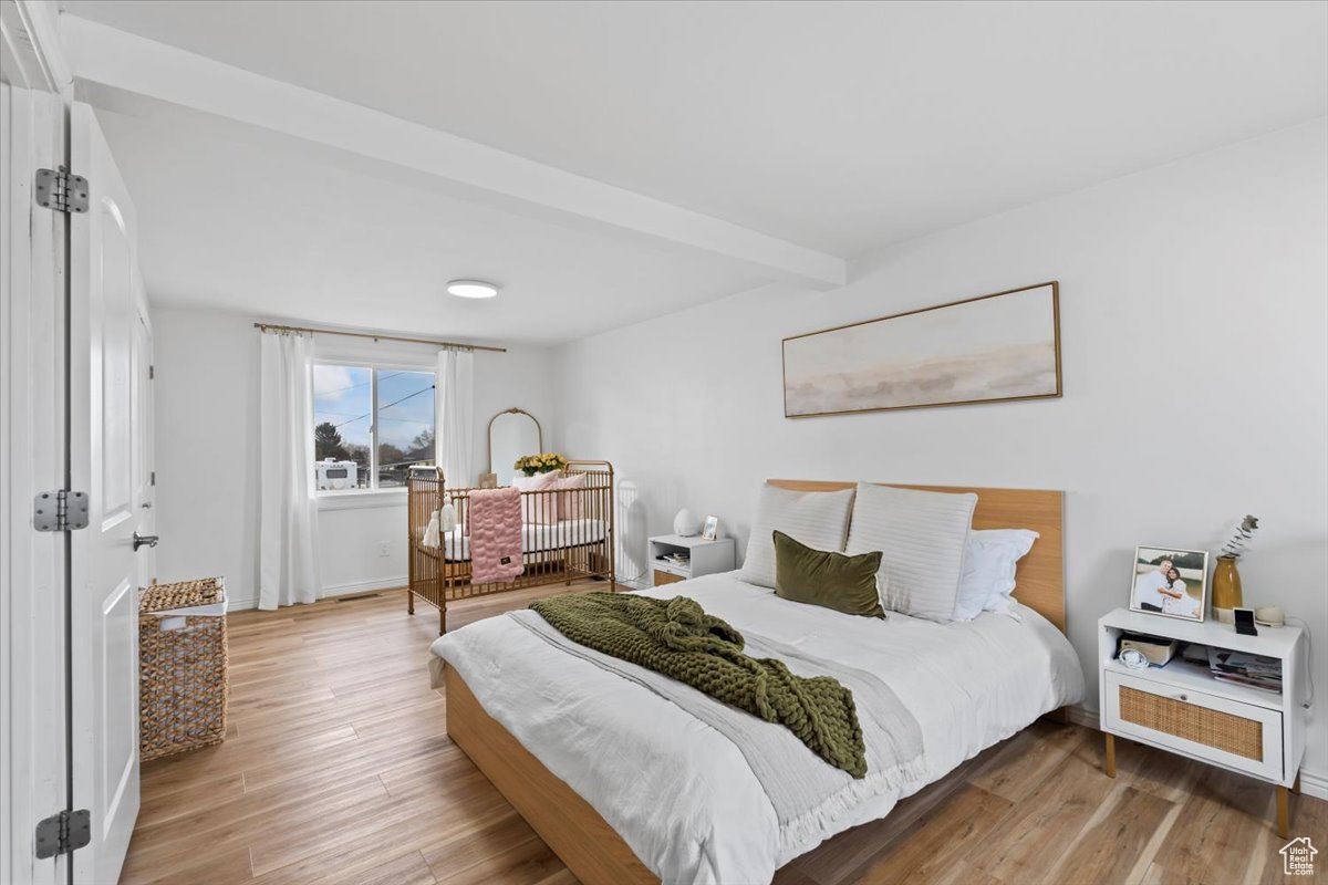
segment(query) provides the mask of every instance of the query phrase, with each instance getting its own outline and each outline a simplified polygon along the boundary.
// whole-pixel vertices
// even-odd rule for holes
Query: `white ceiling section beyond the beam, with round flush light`
[[[761,283],[700,253],[526,219],[216,137],[97,111],[138,215],[154,304],[498,342],[552,344]],[[444,293],[449,279],[502,285]]]

